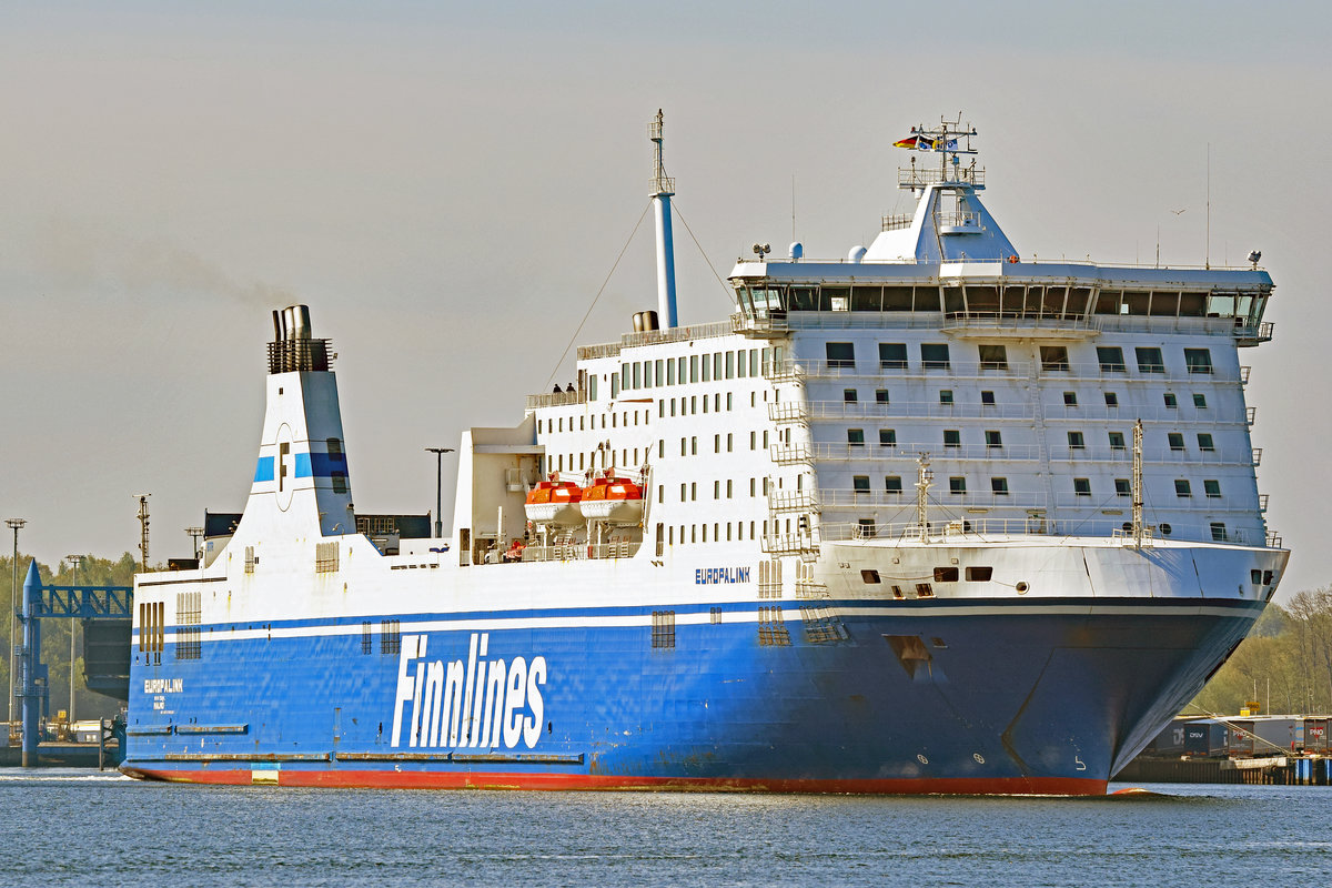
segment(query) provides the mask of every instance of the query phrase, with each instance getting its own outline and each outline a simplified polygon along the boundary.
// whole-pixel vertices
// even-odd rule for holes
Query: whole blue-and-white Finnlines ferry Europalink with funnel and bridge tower
[[[244,513],[136,578],[127,774],[1095,795],[1243,640],[1288,556],[1257,256],[1023,256],[959,118],[868,248],[755,244],[682,326],[649,136],[658,310],[462,434],[448,538],[357,513],[330,341],[274,312]]]

